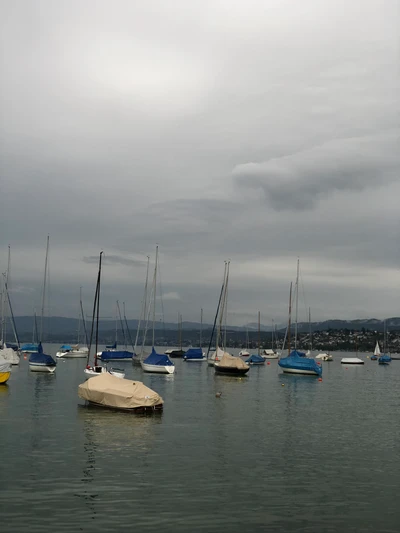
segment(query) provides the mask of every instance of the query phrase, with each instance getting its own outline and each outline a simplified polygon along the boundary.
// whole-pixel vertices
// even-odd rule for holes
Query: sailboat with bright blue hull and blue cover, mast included
[[[294,350],[290,351],[290,330],[292,317],[292,284],[290,284],[289,292],[289,320],[288,320],[288,356],[282,357],[278,361],[278,365],[282,368],[285,374],[301,374],[309,376],[321,376],[322,366],[314,361],[304,357],[305,354],[297,351],[297,321],[298,321],[298,303],[299,303],[299,268],[300,262],[297,260],[297,276],[296,276],[296,318],[295,318],[295,338]]]

